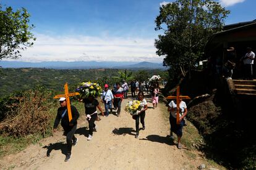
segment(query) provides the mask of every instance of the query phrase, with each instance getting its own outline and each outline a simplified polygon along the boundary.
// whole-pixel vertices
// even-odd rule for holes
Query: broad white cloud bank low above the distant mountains
[[[47,36],[36,34],[33,47],[22,51],[19,61],[117,61],[162,62],[155,54],[154,39],[93,37],[93,36]]]

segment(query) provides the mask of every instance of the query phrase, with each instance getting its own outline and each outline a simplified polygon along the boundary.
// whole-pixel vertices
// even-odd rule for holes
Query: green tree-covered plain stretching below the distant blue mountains
[[[114,84],[113,77],[119,76],[117,69],[89,69],[89,70],[55,70],[43,68],[2,68],[0,69],[0,96],[4,97],[15,91],[32,89],[38,85],[55,92],[63,91],[65,83],[70,89],[75,89],[82,81],[96,81],[102,86],[105,83]],[[163,70],[144,70],[148,76],[166,75]],[[133,70],[132,76],[139,74]],[[146,77],[147,78],[147,77]]]

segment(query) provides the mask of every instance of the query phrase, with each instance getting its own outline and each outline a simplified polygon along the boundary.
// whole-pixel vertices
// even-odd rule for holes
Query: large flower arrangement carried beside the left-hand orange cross
[[[88,82],[80,83],[80,86],[77,87],[75,91],[80,93],[80,99],[85,99],[85,98],[88,98],[89,95],[92,95],[93,97],[97,97],[98,95],[101,94],[102,89],[99,84],[91,83],[90,81],[88,81]]]

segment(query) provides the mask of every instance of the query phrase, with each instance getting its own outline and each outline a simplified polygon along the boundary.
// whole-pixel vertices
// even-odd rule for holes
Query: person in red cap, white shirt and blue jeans
[[[105,105],[105,112],[106,117],[108,117],[109,112],[108,109],[110,109],[112,113],[112,103],[114,102],[114,96],[111,90],[108,89],[108,84],[104,85],[104,91],[101,95],[101,102]]]

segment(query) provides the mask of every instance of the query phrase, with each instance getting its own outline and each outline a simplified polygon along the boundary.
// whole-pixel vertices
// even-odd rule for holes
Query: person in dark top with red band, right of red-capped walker
[[[116,83],[116,89],[114,90],[114,108],[117,109],[117,117],[120,116],[121,103],[124,97],[124,89],[120,86],[120,83]]]

